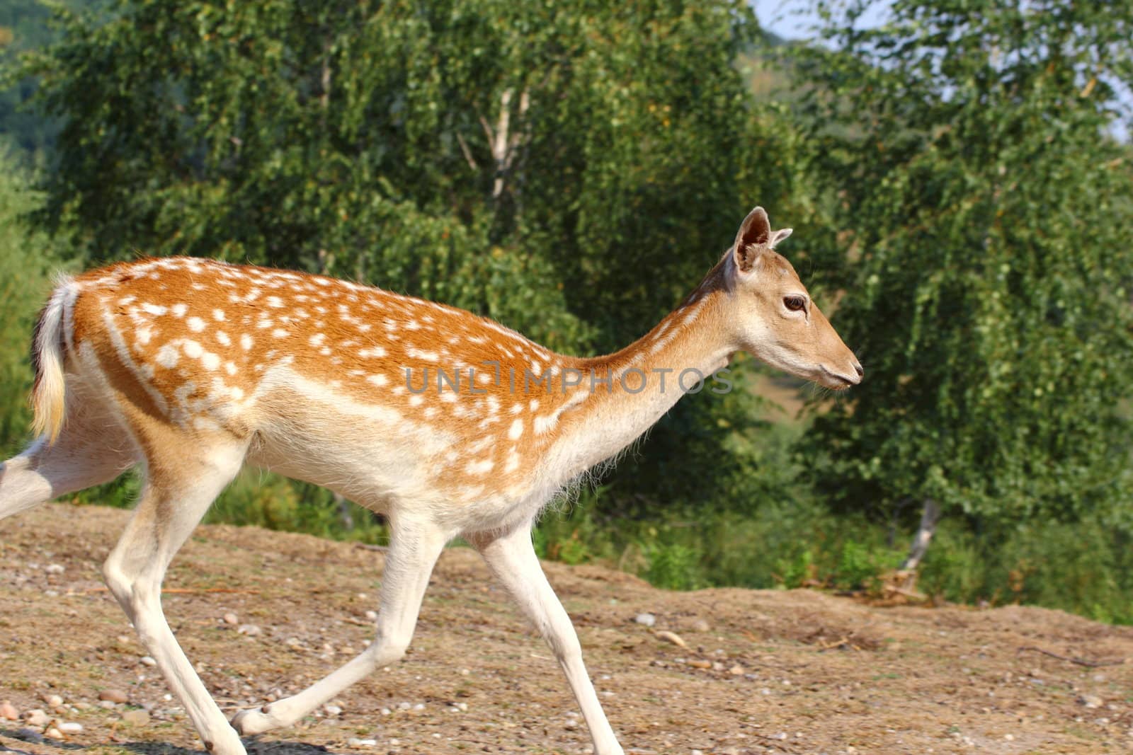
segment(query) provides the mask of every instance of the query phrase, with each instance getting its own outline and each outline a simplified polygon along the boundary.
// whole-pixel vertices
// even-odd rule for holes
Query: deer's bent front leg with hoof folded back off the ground
[[[241,735],[289,727],[353,683],[406,654],[433,565],[449,535],[432,524],[394,521],[391,525],[374,642],[303,692],[261,709],[237,713],[232,727]]]

